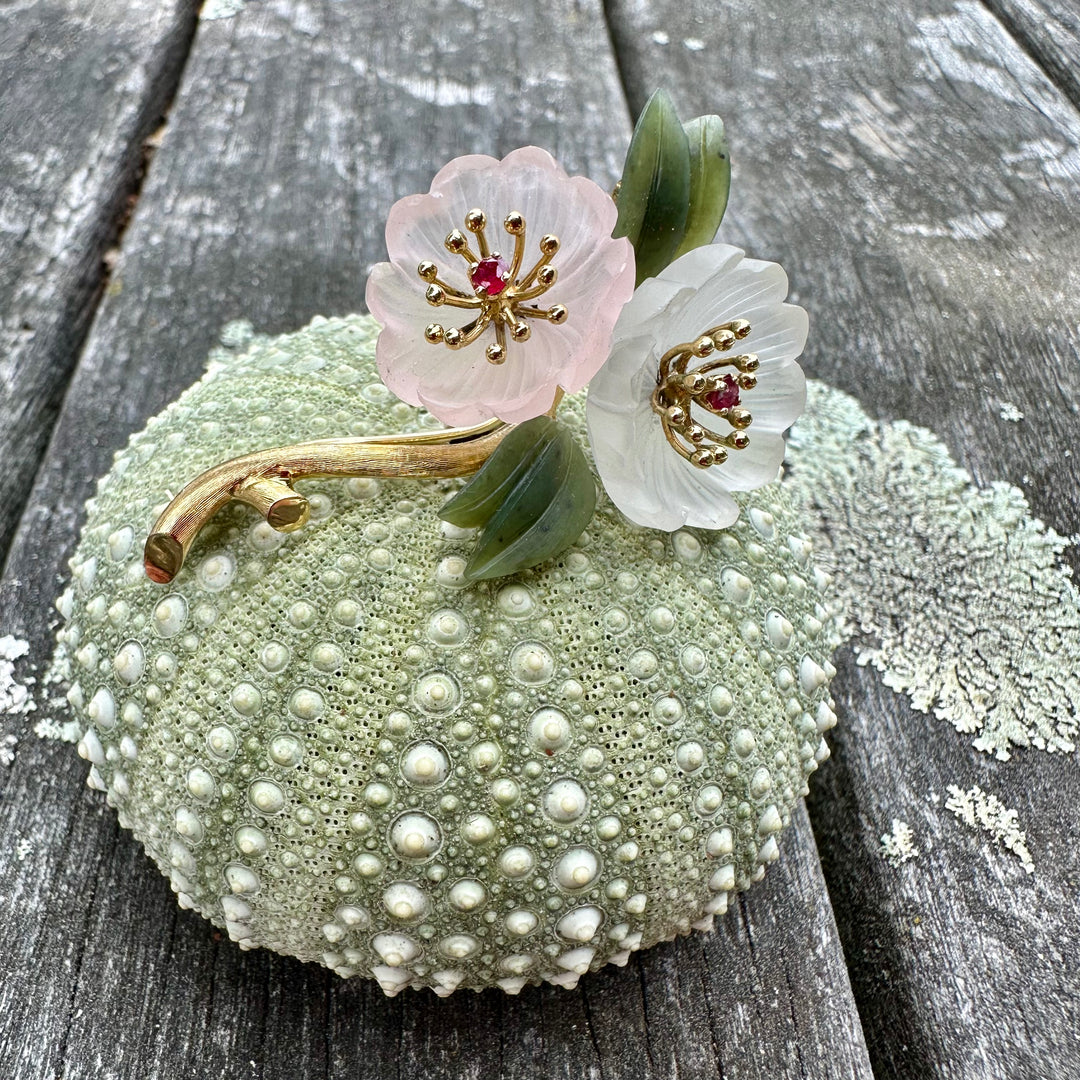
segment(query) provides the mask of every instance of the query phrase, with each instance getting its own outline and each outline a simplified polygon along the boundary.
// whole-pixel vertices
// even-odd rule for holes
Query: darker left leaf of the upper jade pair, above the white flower
[[[634,245],[637,281],[653,278],[675,256],[690,201],[690,147],[675,105],[658,90],[642,110],[619,185],[613,237]]]

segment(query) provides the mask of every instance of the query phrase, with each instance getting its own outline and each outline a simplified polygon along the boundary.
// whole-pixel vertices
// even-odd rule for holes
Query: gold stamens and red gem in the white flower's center
[[[669,349],[660,360],[657,389],[652,391],[652,410],[660,416],[672,449],[699,469],[723,464],[728,450],[744,450],[750,445],[746,428],[754,419],[740,406],[742,392],[757,384],[758,360],[754,353],[716,356],[690,370],[694,360],[705,360],[714,353],[729,352],[737,341],[750,334],[745,319],[705,330],[694,341]],[[718,374],[723,367],[733,367],[737,375]],[[694,418],[694,407],[726,420],[726,435],[711,431]]]

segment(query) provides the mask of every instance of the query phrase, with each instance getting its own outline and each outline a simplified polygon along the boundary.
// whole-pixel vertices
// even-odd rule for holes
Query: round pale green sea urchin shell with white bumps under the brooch
[[[171,586],[165,500],[235,454],[433,426],[377,380],[367,318],[254,338],[118,455],[59,600],[90,783],[180,903],[387,993],[528,982],[707,926],[777,858],[826,754],[832,627],[779,485],[724,532],[627,524],[465,588],[458,482],[310,483],[233,504]],[[561,415],[584,440],[583,402]],[[823,625],[824,624],[824,625]]]

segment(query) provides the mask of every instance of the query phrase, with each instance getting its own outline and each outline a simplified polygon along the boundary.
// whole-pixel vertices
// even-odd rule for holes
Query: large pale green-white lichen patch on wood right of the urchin
[[[1080,595],[1070,541],[1008,484],[976,487],[930,431],[812,383],[788,480],[836,570],[860,663],[974,745],[1071,752]]]

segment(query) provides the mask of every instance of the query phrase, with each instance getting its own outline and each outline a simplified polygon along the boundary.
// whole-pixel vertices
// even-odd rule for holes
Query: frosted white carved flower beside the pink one
[[[731,492],[777,477],[783,431],[806,405],[806,380],[795,359],[806,342],[807,314],[784,303],[786,295],[787,276],[777,264],[710,244],[644,282],[623,308],[611,354],[589,387],[588,417],[600,480],[631,521],[667,530],[726,528],[739,517]],[[750,324],[745,336],[745,327],[737,326],[738,348],[724,349],[717,340],[706,356],[686,354],[684,375],[704,373],[710,389],[691,392],[684,375],[673,374],[657,395],[665,353],[738,320]],[[708,350],[706,342],[701,351]],[[688,406],[684,423],[672,422],[673,416],[678,421],[671,406],[679,395]],[[666,422],[658,408],[667,409]],[[712,440],[706,430],[704,438],[693,432],[694,442],[691,426],[720,437]],[[737,448],[744,438],[745,448]],[[711,451],[700,449],[708,446],[719,460],[694,464],[694,456],[710,460]]]

